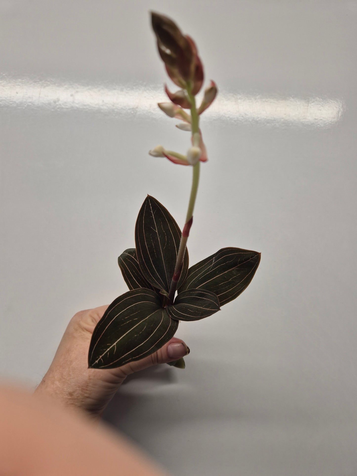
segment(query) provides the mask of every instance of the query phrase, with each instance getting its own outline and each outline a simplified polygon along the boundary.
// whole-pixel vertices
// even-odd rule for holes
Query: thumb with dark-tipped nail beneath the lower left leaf
[[[188,354],[189,348],[185,342],[177,337],[172,337],[169,342],[150,356],[125,364],[120,367],[120,370],[122,370],[126,375],[129,375],[156,364],[166,364],[167,362],[178,360],[180,357],[185,357]]]

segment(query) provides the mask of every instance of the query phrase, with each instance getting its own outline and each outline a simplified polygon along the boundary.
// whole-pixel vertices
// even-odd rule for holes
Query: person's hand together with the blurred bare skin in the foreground
[[[34,394],[0,385],[0,475],[164,476],[99,417],[125,378],[189,353],[173,337],[149,357],[114,369],[88,368],[89,342],[108,306],[78,312]]]

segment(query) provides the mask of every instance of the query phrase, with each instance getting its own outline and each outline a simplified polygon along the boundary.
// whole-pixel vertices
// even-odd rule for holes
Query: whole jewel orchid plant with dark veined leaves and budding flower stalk
[[[198,106],[196,95],[204,73],[195,42],[164,15],[151,13],[151,22],[167,74],[180,88],[172,93],[165,86],[169,102],[159,103],[159,108],[180,120],[179,129],[190,131],[191,145],[186,155],[161,145],[149,154],[192,169],[191,193],[182,233],[156,198],[145,198],[135,225],[135,248],[126,249],[118,258],[129,291],[109,305],[94,329],[88,357],[93,368],[120,367],[149,356],[174,336],[179,321],[211,316],[239,296],[260,261],[256,251],[229,247],[188,266],[186,243],[199,168],[201,162],[207,162],[199,119],[215,99],[217,86],[210,81]],[[185,365],[183,359],[170,364]]]

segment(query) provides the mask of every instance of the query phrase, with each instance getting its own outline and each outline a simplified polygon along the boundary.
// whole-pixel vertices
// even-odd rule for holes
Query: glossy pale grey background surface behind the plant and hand
[[[38,383],[69,318],[127,290],[147,193],[184,222],[190,170],[147,154],[189,137],[156,107],[151,8],[219,88],[190,262],[262,258],[179,325],[186,369],[131,378],[106,417],[174,475],[355,475],[356,1],[0,2],[2,374]]]

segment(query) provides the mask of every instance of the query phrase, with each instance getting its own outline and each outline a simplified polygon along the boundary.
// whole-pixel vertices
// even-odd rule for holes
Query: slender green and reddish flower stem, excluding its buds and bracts
[[[195,96],[191,94],[190,89],[188,89],[188,97],[191,101],[191,124],[192,124],[192,135],[195,134],[196,132],[199,132],[199,117],[197,114],[197,109],[196,109],[196,99]],[[176,265],[175,265],[175,270],[174,270],[174,275],[172,277],[171,281],[171,286],[169,290],[169,304],[173,304],[174,298],[175,298],[175,293],[178,285],[178,280],[181,275],[182,271],[182,265],[183,265],[183,258],[185,256],[185,251],[186,251],[186,243],[188,240],[188,235],[189,235],[189,229],[191,228],[192,225],[192,218],[193,218],[193,210],[195,208],[195,202],[196,202],[196,197],[197,197],[197,190],[198,190],[198,182],[199,182],[199,160],[197,164],[195,164],[192,167],[192,186],[191,186],[191,193],[189,196],[189,202],[188,202],[188,210],[187,210],[187,215],[186,215],[186,223],[185,226],[182,230],[182,236],[180,240],[180,246],[178,248],[178,254],[177,254],[177,260],[176,260]]]

